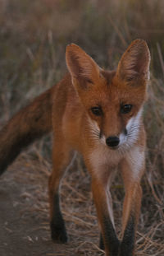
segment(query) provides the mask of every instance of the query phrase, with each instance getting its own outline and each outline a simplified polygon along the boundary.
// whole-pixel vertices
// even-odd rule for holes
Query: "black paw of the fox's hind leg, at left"
[[[65,244],[68,240],[68,237],[66,235],[66,226],[64,222],[62,225],[57,225],[51,222],[51,237],[54,242],[59,242],[62,244]]]

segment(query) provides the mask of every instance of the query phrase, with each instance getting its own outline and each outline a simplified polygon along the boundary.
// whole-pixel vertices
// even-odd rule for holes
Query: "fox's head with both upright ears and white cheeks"
[[[66,48],[66,64],[89,119],[93,137],[111,149],[130,147],[138,138],[149,77],[150,53],[134,40],[116,71],[98,67],[75,44]]]

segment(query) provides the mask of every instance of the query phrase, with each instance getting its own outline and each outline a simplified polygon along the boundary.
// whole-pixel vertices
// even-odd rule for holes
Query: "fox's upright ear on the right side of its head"
[[[144,40],[134,40],[118,64],[116,75],[123,81],[149,79],[150,52]]]

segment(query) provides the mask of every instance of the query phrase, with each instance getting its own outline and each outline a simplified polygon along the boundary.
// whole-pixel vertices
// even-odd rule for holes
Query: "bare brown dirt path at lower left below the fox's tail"
[[[33,209],[37,200],[35,182],[22,173],[21,165],[14,165],[0,179],[0,255],[39,256],[54,252],[48,230],[42,229],[43,218]],[[24,170],[23,170],[24,171]],[[41,186],[46,180],[39,179]],[[46,190],[45,186],[45,190]],[[45,223],[47,226],[48,223]]]

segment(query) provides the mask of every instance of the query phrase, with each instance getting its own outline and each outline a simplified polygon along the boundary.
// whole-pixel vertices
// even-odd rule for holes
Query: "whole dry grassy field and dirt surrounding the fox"
[[[164,255],[164,2],[161,0],[0,0],[0,128],[66,73],[66,44],[79,44],[99,66],[114,69],[130,42],[151,52],[146,171],[137,256]],[[2,256],[104,255],[90,177],[79,155],[62,180],[68,244],[53,244],[48,226],[51,136],[34,142],[0,178]],[[117,232],[124,187],[112,184]]]

